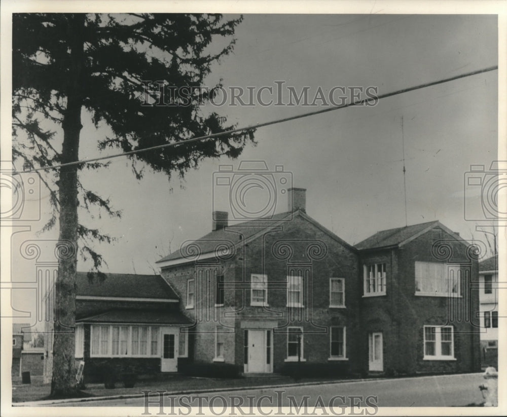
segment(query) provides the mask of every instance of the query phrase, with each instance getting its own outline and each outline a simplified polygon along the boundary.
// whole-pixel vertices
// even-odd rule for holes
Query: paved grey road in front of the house
[[[198,406],[198,401],[202,401],[203,407],[209,406],[209,400],[213,396],[223,396],[226,398],[227,404],[231,405],[233,401],[236,405],[242,402],[243,413],[248,413],[248,401],[253,401],[253,404],[258,404],[261,396],[272,397],[272,404],[274,407],[279,405],[281,401],[282,406],[293,406],[295,402],[291,402],[289,397],[293,396],[299,405],[304,396],[308,396],[308,411],[302,409],[301,412],[307,414],[311,413],[314,407],[319,403],[319,397],[322,404],[329,406],[329,402],[333,397],[345,396],[345,405],[351,405],[351,401],[358,403],[360,399],[348,399],[347,396],[366,397],[375,396],[378,400],[370,397],[369,404],[363,402],[363,406],[378,405],[380,407],[427,407],[427,406],[464,406],[470,403],[481,403],[483,398],[479,390],[479,385],[483,384],[484,378],[481,373],[474,374],[460,374],[460,375],[440,375],[440,376],[419,376],[412,378],[400,378],[392,380],[377,380],[377,381],[358,381],[358,382],[344,382],[335,384],[322,384],[310,386],[297,386],[285,388],[269,388],[269,389],[247,389],[242,391],[221,391],[209,394],[198,394],[199,397],[204,397],[201,400],[195,398],[197,395],[175,397],[174,404],[191,404],[195,407]],[[276,391],[283,390],[283,393]],[[249,400],[248,396],[254,396],[255,399]],[[233,398],[236,397],[236,398]],[[155,400],[156,397],[153,397]],[[260,403],[262,406],[269,406],[270,399],[264,397]],[[70,404],[62,404],[62,406]],[[74,406],[117,406],[117,407],[143,407],[143,398],[130,398],[130,399],[117,399],[117,400],[101,400],[91,401],[87,403],[74,404]],[[334,407],[337,412],[340,411],[339,406],[344,405],[341,398],[335,398]],[[215,399],[213,408],[217,413],[223,407],[223,401]],[[153,410],[150,409],[153,415],[159,411],[159,406],[154,405]],[[373,411],[373,408],[370,407]],[[183,407],[186,411],[187,408]],[[239,412],[238,410],[236,410]],[[318,411],[318,410],[317,410]],[[164,403],[163,412],[170,413],[170,400],[166,399]],[[228,412],[222,415],[227,415]]]

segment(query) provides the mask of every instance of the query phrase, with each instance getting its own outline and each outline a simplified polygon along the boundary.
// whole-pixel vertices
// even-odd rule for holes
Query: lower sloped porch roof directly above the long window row
[[[83,317],[78,323],[129,323],[129,324],[192,324],[191,320],[179,311],[170,310],[131,310],[115,309]]]

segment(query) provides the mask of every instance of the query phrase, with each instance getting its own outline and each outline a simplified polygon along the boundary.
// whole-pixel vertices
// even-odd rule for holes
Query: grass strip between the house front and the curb
[[[302,378],[298,382],[325,382],[336,381],[336,378]],[[199,378],[184,375],[171,375],[163,380],[137,381],[134,388],[124,388],[121,382],[116,383],[116,388],[105,389],[104,384],[86,384],[83,390],[90,396],[103,397],[111,395],[132,395],[141,394],[141,390],[167,390],[168,392],[196,391],[217,388],[234,387],[258,387],[262,385],[286,385],[295,381],[289,376],[269,375],[250,376],[244,378]],[[43,384],[41,381],[33,380],[31,384],[13,384],[12,402],[38,401],[50,394],[51,384]],[[158,395],[155,393],[155,395]]]

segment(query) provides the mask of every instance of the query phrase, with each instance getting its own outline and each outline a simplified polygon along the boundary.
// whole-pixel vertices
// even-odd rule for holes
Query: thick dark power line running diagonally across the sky
[[[139,154],[141,152],[147,152],[150,150],[163,149],[163,148],[170,147],[170,146],[178,146],[178,145],[184,145],[187,143],[197,142],[200,140],[212,139],[212,138],[216,138],[216,137],[220,137],[220,136],[224,136],[224,135],[229,135],[231,133],[245,132],[245,134],[246,134],[246,133],[249,133],[255,129],[261,128],[261,127],[277,125],[279,123],[290,122],[292,120],[302,119],[302,118],[309,117],[309,116],[316,116],[316,115],[320,115],[322,113],[327,113],[328,111],[339,110],[341,108],[358,106],[358,105],[365,104],[367,102],[371,102],[374,100],[378,101],[383,98],[392,97],[392,96],[403,94],[403,93],[408,93],[410,91],[419,90],[421,88],[426,88],[426,87],[436,86],[436,85],[443,84],[443,83],[448,83],[450,81],[459,80],[460,78],[465,78],[465,77],[471,77],[472,75],[481,74],[483,72],[494,71],[495,69],[498,69],[498,65],[491,66],[488,68],[479,69],[479,70],[472,71],[472,72],[467,72],[467,73],[460,74],[460,75],[455,75],[454,77],[446,78],[446,79],[439,80],[439,81],[433,81],[431,83],[419,84],[418,86],[415,86],[415,87],[409,87],[409,88],[404,88],[402,90],[396,90],[391,93],[381,94],[374,99],[373,98],[365,98],[363,100],[358,100],[358,101],[354,101],[354,102],[347,103],[347,104],[330,106],[330,107],[327,107],[324,109],[310,111],[308,113],[302,113],[301,115],[297,115],[297,116],[291,116],[291,117],[286,117],[283,119],[272,120],[270,122],[257,123],[256,125],[250,125],[250,126],[246,126],[246,127],[237,128],[237,129],[227,130],[225,132],[219,132],[219,133],[213,133],[210,135],[199,136],[199,137],[195,137],[195,138],[191,138],[191,139],[186,139],[186,140],[183,140],[180,142],[164,143],[163,145],[157,145],[157,146],[151,146],[151,147],[142,148],[142,149],[130,150],[128,152],[124,152],[121,154],[108,155],[108,156],[104,156],[104,157],[92,158],[92,159],[88,159],[88,160],[80,160],[80,161],[75,161],[75,162],[67,162],[65,164],[52,165],[49,167],[33,168],[33,169],[30,169],[27,171],[22,171],[22,172],[27,173],[27,172],[45,171],[45,170],[50,170],[50,169],[58,169],[58,168],[62,168],[62,167],[68,167],[68,166],[72,166],[72,165],[87,164],[90,162],[102,161],[104,159],[113,159],[113,158],[118,158],[118,157],[123,157],[123,156],[128,156],[128,155]],[[17,171],[17,172],[13,172],[13,174],[20,174],[22,172]]]

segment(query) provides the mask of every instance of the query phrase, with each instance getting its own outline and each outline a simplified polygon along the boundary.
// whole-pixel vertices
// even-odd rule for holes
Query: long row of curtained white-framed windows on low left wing
[[[159,355],[158,326],[92,325],[90,338],[91,357]]]

